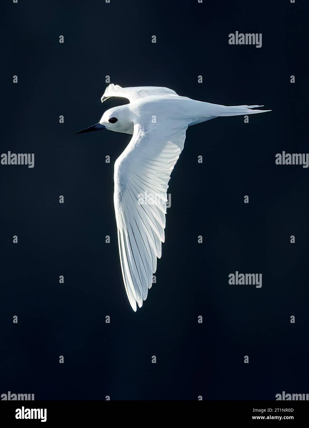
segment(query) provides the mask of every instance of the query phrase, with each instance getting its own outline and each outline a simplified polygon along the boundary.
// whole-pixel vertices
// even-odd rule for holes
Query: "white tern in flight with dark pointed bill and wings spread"
[[[182,97],[168,88],[122,88],[111,83],[101,101],[127,98],[100,122],[77,132],[110,131],[132,138],[115,162],[114,206],[123,282],[134,311],[146,300],[164,242],[168,182],[184,148],[188,126],[217,116],[264,113],[258,105],[223,106]],[[149,197],[150,195],[150,197]]]

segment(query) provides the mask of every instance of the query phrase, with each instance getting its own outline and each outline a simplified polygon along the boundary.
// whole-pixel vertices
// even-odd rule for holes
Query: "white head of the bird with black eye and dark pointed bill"
[[[102,131],[108,129],[109,131],[123,132],[124,134],[133,134],[133,114],[128,107],[128,104],[113,107],[107,110],[101,117],[100,122],[96,123],[89,128],[83,129],[76,134],[83,134],[84,132]]]

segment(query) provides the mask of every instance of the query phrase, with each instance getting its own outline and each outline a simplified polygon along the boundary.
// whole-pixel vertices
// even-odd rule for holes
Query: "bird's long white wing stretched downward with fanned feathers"
[[[187,125],[134,125],[115,163],[114,205],[125,290],[132,309],[142,306],[164,242],[166,190],[184,148]],[[137,305],[136,305],[137,304]]]

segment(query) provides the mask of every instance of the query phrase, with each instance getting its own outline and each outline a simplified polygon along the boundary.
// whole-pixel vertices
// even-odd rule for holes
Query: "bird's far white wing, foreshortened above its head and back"
[[[119,85],[110,83],[101,97],[102,103],[110,97],[128,98],[130,102],[137,98],[147,97],[149,95],[177,95],[175,91],[160,86],[136,86],[132,88],[122,88]]]

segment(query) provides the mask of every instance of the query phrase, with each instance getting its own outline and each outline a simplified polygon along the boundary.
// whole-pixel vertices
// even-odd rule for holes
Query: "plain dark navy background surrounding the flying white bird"
[[[35,166],[0,165],[0,394],[274,400],[283,390],[309,392],[309,169],[275,164],[283,150],[309,152],[302,3],[3,4],[1,153],[35,153]],[[262,33],[262,47],[229,45],[236,30]],[[157,284],[136,313],[113,210],[113,163],[130,137],[74,135],[126,102],[101,104],[106,75],[124,87],[272,110],[248,124],[237,116],[188,129]],[[236,270],[262,273],[262,288],[229,285]]]

